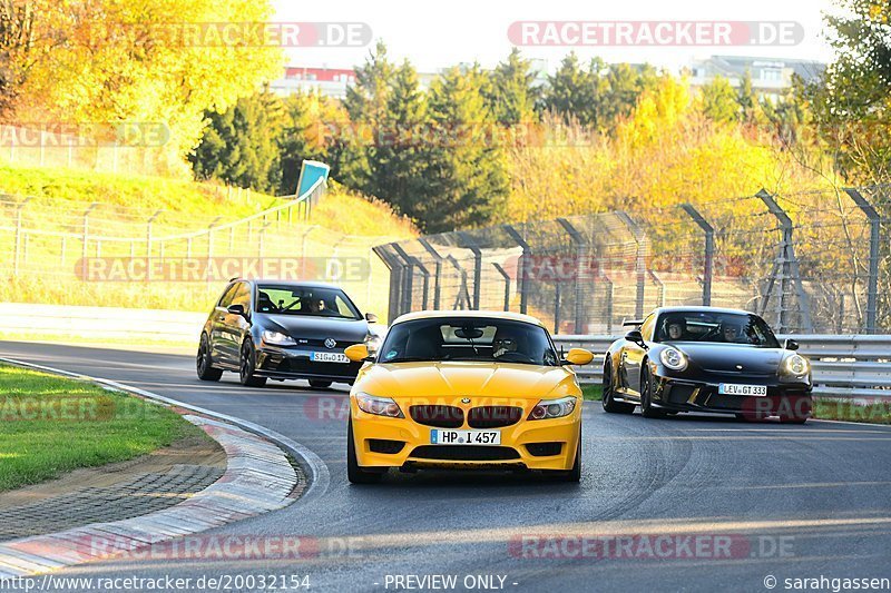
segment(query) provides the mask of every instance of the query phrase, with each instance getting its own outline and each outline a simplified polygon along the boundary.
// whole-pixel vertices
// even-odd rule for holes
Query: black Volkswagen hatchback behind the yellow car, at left
[[[198,377],[219,380],[232,370],[251,387],[266,379],[309,379],[316,388],[352,384],[362,363],[343,349],[364,343],[376,350],[375,320],[335,286],[235,279],[204,324]]]

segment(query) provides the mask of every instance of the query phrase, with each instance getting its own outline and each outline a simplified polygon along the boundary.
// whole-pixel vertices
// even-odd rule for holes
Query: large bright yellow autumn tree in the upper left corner
[[[3,20],[10,10],[0,10],[0,51],[9,56],[11,72],[3,78],[14,87],[8,96],[14,98],[9,107],[17,119],[166,125],[169,138],[156,157],[175,172],[185,170],[207,109],[223,111],[281,72],[281,48],[246,34],[227,43],[219,30],[196,42],[185,32],[186,23],[213,31],[208,23],[265,22],[272,14],[268,0],[3,0],[2,6],[33,18],[28,42],[10,43],[10,31],[12,38],[21,34]]]

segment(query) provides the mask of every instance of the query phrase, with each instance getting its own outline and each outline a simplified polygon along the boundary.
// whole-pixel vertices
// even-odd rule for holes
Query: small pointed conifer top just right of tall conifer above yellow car
[[[522,59],[520,50],[513,48],[507,60],[492,72],[492,83],[486,92],[489,108],[501,126],[516,126],[537,120],[536,103],[540,89],[535,82],[531,62]]]

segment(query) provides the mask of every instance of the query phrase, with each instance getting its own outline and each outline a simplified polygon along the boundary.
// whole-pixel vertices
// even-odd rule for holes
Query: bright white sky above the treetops
[[[273,0],[280,22],[363,22],[373,39],[383,39],[393,59],[408,58],[420,71],[435,72],[461,62],[491,68],[513,47],[508,28],[516,21],[794,21],[801,42],[786,46],[733,47],[581,47],[585,60],[649,62],[677,70],[692,59],[712,55],[800,58],[828,62],[832,49],[823,37],[823,12],[831,0]],[[373,47],[290,48],[288,63],[351,68]],[[546,60],[554,70],[570,47],[523,47],[526,58]]]

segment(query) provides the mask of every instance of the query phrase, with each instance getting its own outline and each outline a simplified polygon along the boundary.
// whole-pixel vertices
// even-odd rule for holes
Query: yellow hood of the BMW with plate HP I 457
[[[356,388],[385,397],[538,399],[561,385],[575,385],[572,373],[564,367],[446,362],[375,364],[365,369]]]

